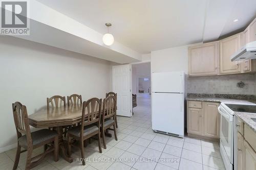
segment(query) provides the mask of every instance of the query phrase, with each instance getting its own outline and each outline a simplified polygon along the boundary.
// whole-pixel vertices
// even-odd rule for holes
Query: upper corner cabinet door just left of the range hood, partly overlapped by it
[[[220,74],[241,72],[240,61],[231,61],[232,54],[240,50],[241,34],[237,34],[220,41]]]

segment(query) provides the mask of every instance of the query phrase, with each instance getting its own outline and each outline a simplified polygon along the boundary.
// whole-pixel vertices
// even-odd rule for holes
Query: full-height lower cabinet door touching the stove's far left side
[[[219,103],[204,103],[204,135],[208,137],[220,137]]]

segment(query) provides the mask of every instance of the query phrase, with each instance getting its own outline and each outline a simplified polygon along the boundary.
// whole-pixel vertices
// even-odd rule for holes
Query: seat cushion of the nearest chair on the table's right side
[[[68,130],[68,133],[75,135],[75,136],[80,136],[80,130],[81,130],[81,126],[76,126],[70,130]],[[84,126],[83,127],[83,136],[87,136],[95,131],[98,131],[99,128],[92,124],[92,125],[88,125],[88,126]]]

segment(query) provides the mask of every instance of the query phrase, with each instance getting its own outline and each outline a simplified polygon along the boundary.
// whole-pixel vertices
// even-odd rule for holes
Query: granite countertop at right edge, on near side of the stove
[[[234,112],[242,121],[256,133],[256,122],[251,118],[256,118],[256,113]]]

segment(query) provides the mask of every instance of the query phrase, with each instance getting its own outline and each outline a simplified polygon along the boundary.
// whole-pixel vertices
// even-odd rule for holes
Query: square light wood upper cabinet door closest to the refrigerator
[[[218,42],[214,42],[188,48],[189,76],[218,74],[218,46]]]

